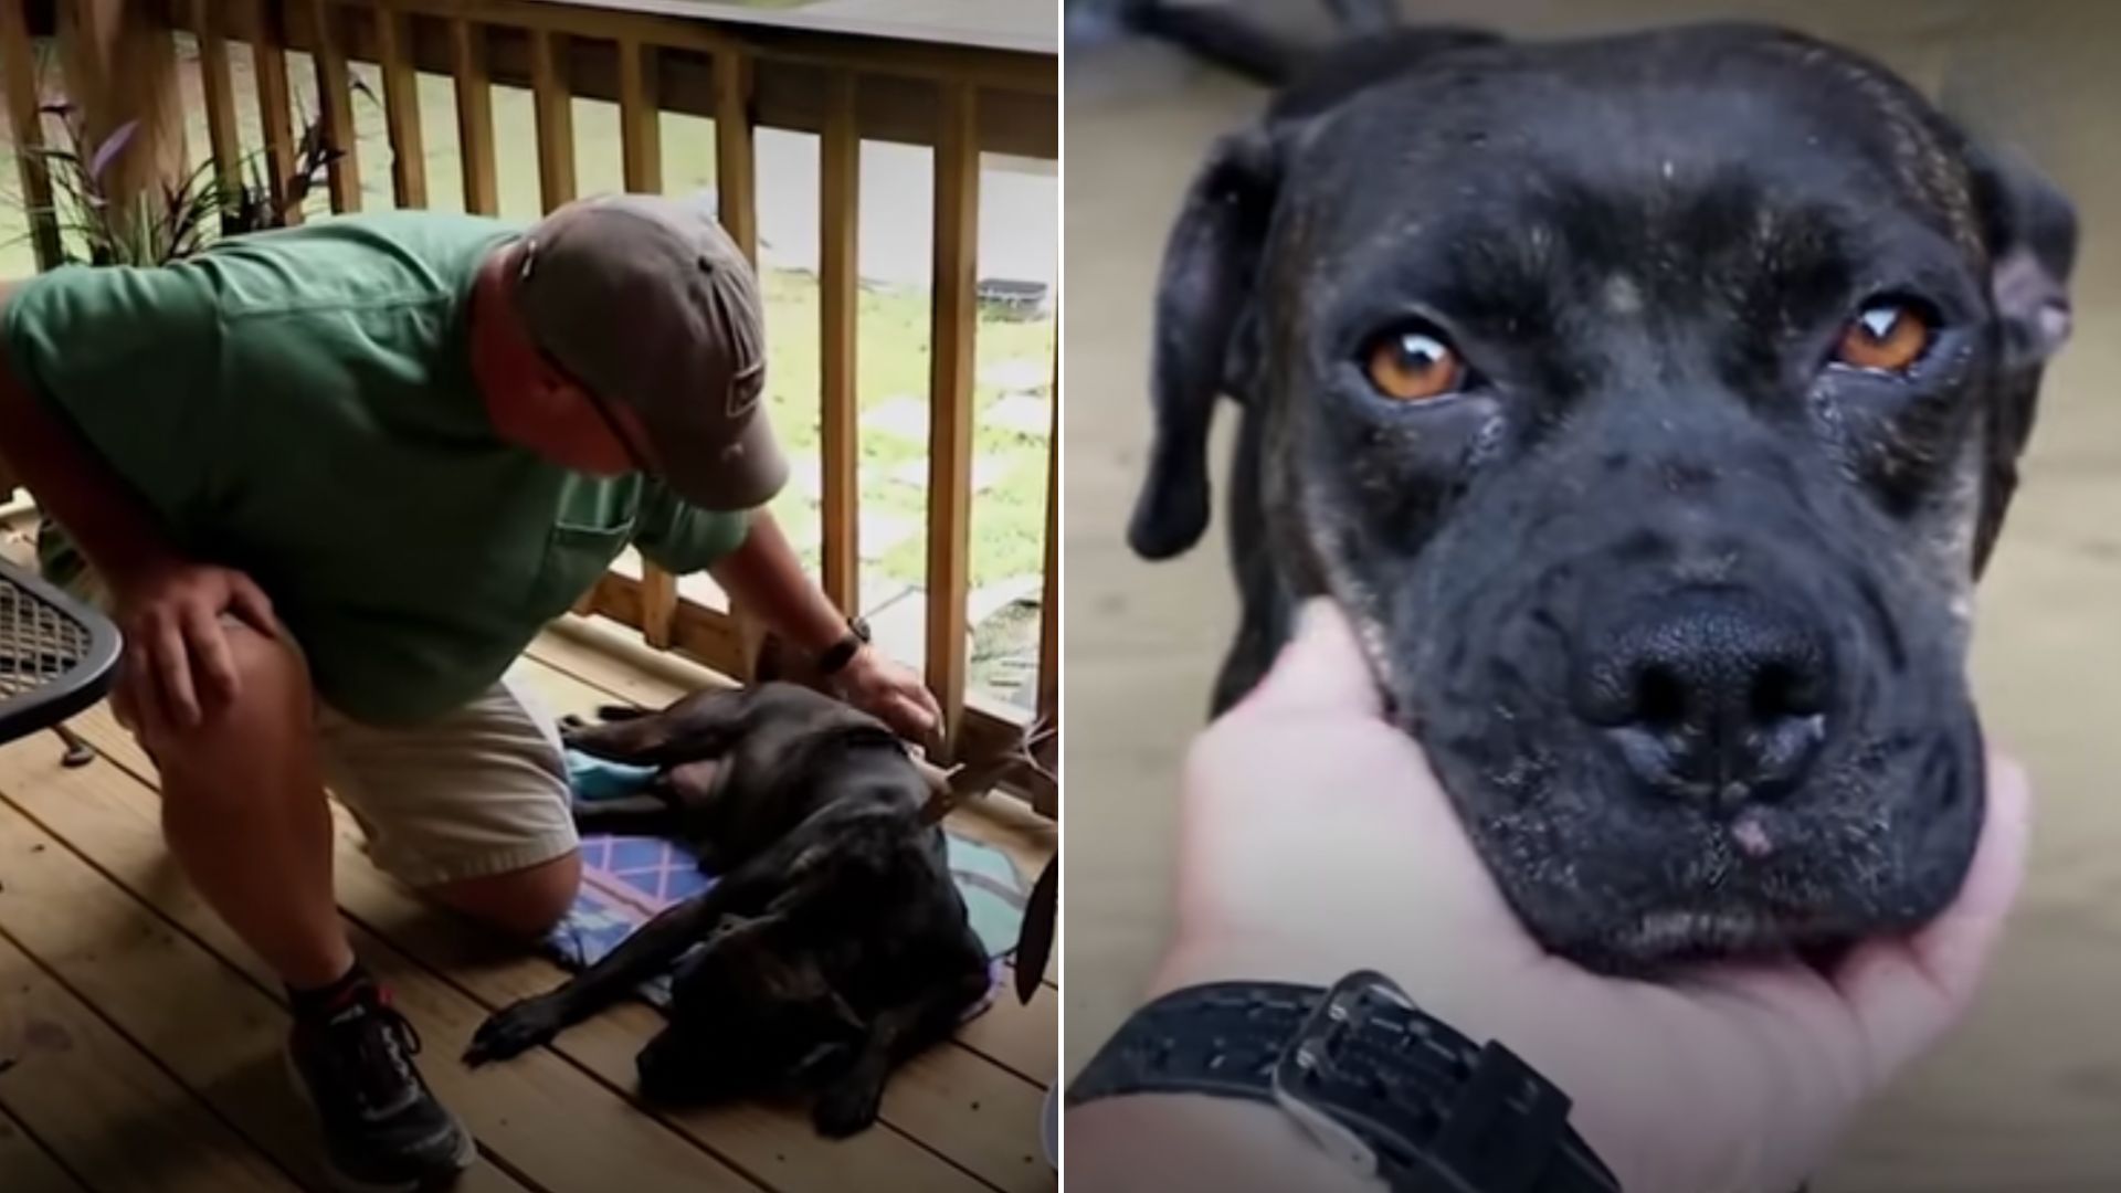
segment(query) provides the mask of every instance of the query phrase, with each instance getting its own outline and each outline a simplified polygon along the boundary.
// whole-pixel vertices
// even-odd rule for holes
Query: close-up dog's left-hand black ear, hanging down
[[[1156,431],[1128,526],[1143,558],[1175,556],[1207,529],[1207,435],[1228,388],[1230,346],[1251,301],[1277,174],[1264,125],[1222,138],[1164,244],[1150,374]]]

